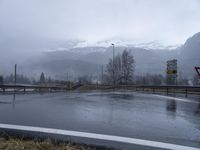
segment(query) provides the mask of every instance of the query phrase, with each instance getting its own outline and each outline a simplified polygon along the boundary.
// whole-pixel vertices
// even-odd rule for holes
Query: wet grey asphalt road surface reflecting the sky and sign
[[[0,123],[200,148],[200,99],[130,91],[0,95]]]

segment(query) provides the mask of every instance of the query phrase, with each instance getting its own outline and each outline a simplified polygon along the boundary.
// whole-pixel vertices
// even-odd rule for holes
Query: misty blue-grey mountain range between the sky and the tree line
[[[112,47],[77,47],[79,42],[82,41],[59,41],[54,44],[52,42],[45,45],[49,46],[49,49],[44,47],[45,52],[31,56],[25,52],[16,53],[12,57],[1,56],[1,74],[11,73],[14,63],[18,63],[19,72],[32,77],[38,77],[41,72],[59,79],[66,79],[67,76],[74,79],[83,75],[98,77],[101,74],[101,66],[105,67],[108,59],[112,58]],[[166,61],[178,59],[179,73],[192,78],[195,74],[194,66],[200,64],[200,33],[190,37],[182,46],[175,49],[147,49],[118,44],[115,47],[116,55],[124,49],[132,52],[136,61],[136,75],[165,75]]]

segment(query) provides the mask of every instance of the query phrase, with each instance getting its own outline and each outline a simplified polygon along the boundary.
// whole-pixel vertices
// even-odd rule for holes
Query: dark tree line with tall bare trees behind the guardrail
[[[145,74],[145,75],[134,75],[135,73],[136,61],[131,51],[124,50],[122,53],[117,54],[113,59],[109,59],[106,64],[105,72],[102,72],[101,84],[110,85],[166,85],[166,76],[161,74]],[[84,84],[92,83],[92,76],[80,76],[78,81]],[[97,78],[97,77],[95,77]],[[45,83],[59,83],[59,80],[53,80],[51,77],[46,78],[42,72],[39,80],[34,78],[28,78],[23,74],[17,74],[17,83],[20,84],[45,84]],[[199,77],[194,76],[193,80],[185,79],[181,77],[181,74],[177,80],[178,85],[199,85]],[[63,83],[66,81],[62,81]],[[8,76],[0,75],[0,84],[12,84],[14,83],[14,75],[10,74]],[[99,83],[99,82],[97,82]]]

